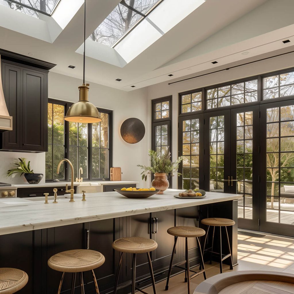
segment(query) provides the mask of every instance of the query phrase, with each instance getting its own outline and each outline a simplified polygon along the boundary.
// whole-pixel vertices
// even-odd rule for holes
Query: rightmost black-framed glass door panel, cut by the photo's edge
[[[294,236],[294,100],[260,106],[260,230]]]

